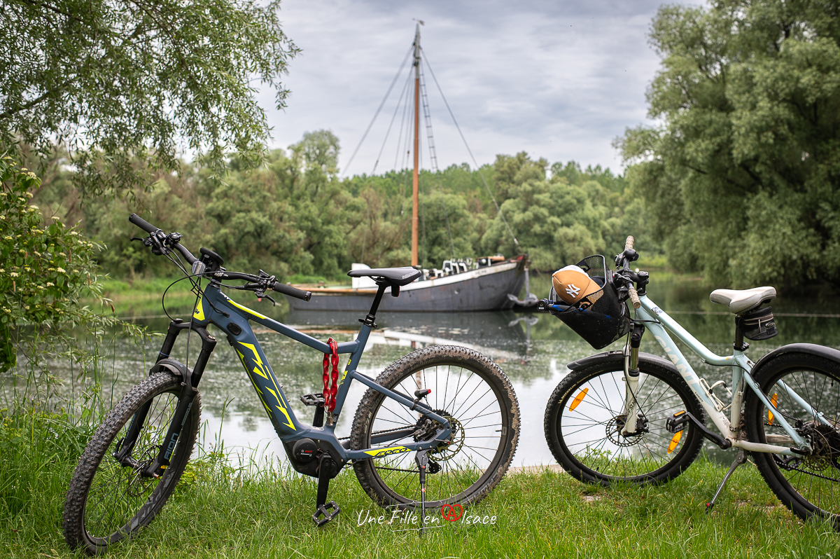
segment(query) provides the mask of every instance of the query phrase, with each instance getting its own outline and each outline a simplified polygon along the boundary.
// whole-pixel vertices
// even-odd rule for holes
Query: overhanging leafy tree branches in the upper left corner
[[[0,145],[69,149],[83,190],[131,192],[173,171],[179,146],[254,163],[269,127],[255,80],[279,78],[298,49],[279,0],[3,0]]]

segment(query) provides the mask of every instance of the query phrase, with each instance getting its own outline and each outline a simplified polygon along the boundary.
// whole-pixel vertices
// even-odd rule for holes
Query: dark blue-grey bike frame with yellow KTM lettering
[[[384,291],[384,287],[381,287],[381,290]],[[359,330],[359,335],[356,337],[356,340],[342,342],[338,345],[339,354],[349,354],[349,361],[347,361],[347,365],[344,367],[344,372],[339,377],[339,390],[336,395],[335,409],[331,413],[325,410],[325,414],[327,414],[328,419],[330,419],[327,421],[327,425],[323,425],[323,427],[315,427],[312,425],[302,424],[295,416],[294,411],[292,411],[291,406],[288,403],[288,399],[286,398],[286,394],[283,393],[281,384],[277,382],[275,374],[269,365],[268,358],[265,356],[265,353],[260,347],[260,342],[256,339],[254,330],[251,329],[250,322],[252,321],[265,326],[270,330],[274,330],[281,335],[285,335],[292,340],[308,345],[314,350],[321,351],[323,353],[332,352],[327,343],[317,340],[310,335],[306,335],[294,328],[291,328],[290,326],[287,326],[286,324],[281,324],[280,322],[270,319],[255,310],[248,309],[247,307],[236,303],[234,300],[228,298],[227,295],[222,293],[217,283],[211,283],[203,290],[202,297],[199,298],[193,312],[192,321],[190,323],[176,321],[170,325],[169,333],[166,336],[164,345],[160,351],[160,355],[158,356],[158,363],[161,363],[162,360],[165,360],[169,356],[169,353],[175,344],[176,337],[182,330],[196,330],[202,337],[202,351],[196,361],[195,370],[190,372],[187,371],[185,367],[185,371],[183,371],[183,373],[186,377],[185,380],[192,380],[192,382],[188,382],[187,384],[192,384],[192,387],[197,388],[197,383],[202,376],[203,368],[207,363],[207,358],[209,357],[210,352],[213,351],[213,346],[216,345],[216,341],[213,336],[207,334],[206,327],[209,324],[215,325],[219,330],[222,330],[228,336],[228,342],[234,347],[234,350],[239,356],[239,360],[242,361],[245,371],[248,373],[249,380],[253,384],[260,401],[263,403],[265,411],[268,414],[272,425],[274,425],[276,433],[280,439],[284,443],[293,442],[303,438],[315,440],[316,444],[318,444],[319,441],[326,443],[326,448],[323,450],[328,451],[329,455],[334,461],[336,461],[339,467],[343,466],[350,460],[370,460],[372,458],[399,454],[402,452],[427,450],[437,446],[440,440],[445,440],[451,434],[452,429],[449,425],[449,420],[435,414],[428,408],[428,406],[426,406],[426,404],[414,401],[404,394],[396,393],[388,388],[382,387],[373,379],[365,377],[365,375],[356,371],[356,367],[359,365],[362,352],[365,350],[365,344],[367,344],[368,336],[370,335],[371,330],[370,325],[364,323]],[[350,383],[353,380],[358,380],[359,382],[365,384],[365,386],[385,394],[386,398],[396,400],[410,410],[417,411],[420,414],[434,419],[439,424],[443,425],[443,427],[438,430],[438,433],[432,440],[409,442],[398,446],[377,446],[363,450],[349,450],[344,448],[339,439],[335,436],[335,425],[339,419],[339,415],[341,414],[341,409],[344,406],[344,399],[347,397]],[[189,405],[192,405],[192,398],[190,398],[190,400],[191,403]],[[168,446],[170,446],[171,449],[175,448],[177,433],[180,431],[181,420],[186,417],[186,412],[189,409],[188,405],[183,403],[186,402],[186,400],[181,398],[181,401],[182,403],[179,403],[179,410],[176,411],[176,415],[173,417],[170,431],[167,433],[167,437],[165,439],[170,440],[170,444]],[[180,413],[181,409],[183,409],[182,414]],[[139,420],[142,422],[143,418],[141,417]],[[129,428],[129,431],[130,430],[131,428]],[[389,440],[399,440],[405,438],[406,435],[411,434],[410,432],[406,433],[403,431],[405,430],[377,435],[373,438],[374,440],[372,440],[372,442],[375,444],[387,443]],[[165,448],[161,449],[159,459],[160,463],[168,465],[171,449],[168,453]]]

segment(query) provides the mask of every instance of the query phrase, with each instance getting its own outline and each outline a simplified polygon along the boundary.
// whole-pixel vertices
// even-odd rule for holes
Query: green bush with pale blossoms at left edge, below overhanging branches
[[[0,181],[0,371],[7,371],[16,361],[18,327],[34,324],[36,334],[67,341],[66,330],[105,319],[81,304],[102,296],[93,257],[99,246],[58,219],[44,223],[29,205],[39,178],[10,156],[0,159]]]

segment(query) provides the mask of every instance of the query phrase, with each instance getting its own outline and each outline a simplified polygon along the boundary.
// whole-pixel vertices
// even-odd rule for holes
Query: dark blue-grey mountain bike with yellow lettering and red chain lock
[[[136,214],[129,220],[149,234],[138,240],[185,273],[197,304],[189,322],[170,323],[149,377],[120,400],[81,455],[64,509],[64,533],[71,548],[105,551],[149,524],[171,496],[190,460],[201,421],[198,386],[217,341],[207,331],[211,324],[242,361],[292,467],[318,478],[312,515],[316,524],[324,525],[339,514],[339,505],[327,502],[329,481],[351,463],[370,498],[381,506],[404,509],[474,504],[501,481],[517,447],[519,407],[511,383],[489,358],[463,347],[430,346],[392,363],[375,380],[357,371],[381,298],[389,292],[397,297],[400,287],[420,275],[418,270],[350,272],[375,279],[374,303],[360,319],[356,340],[323,342],[234,302],[222,288],[250,291],[272,301],[266,291],[303,300],[311,293],[262,271],[228,272],[212,250],[202,248],[201,258],[196,258],[181,245],[181,235],[167,235]],[[186,272],[179,254],[192,273]],[[202,280],[207,287],[201,287]],[[237,280],[245,283],[225,283]],[[324,390],[301,397],[314,408],[312,425],[299,421],[289,406],[251,322],[323,352]],[[185,330],[201,339],[192,369],[170,358]],[[349,361],[339,375],[340,354],[349,354]],[[354,380],[369,390],[356,409],[349,439],[339,440],[335,425]]]

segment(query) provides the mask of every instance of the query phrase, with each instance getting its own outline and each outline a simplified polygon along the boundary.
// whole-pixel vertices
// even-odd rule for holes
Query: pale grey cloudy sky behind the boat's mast
[[[344,174],[412,44],[417,18],[425,22],[423,50],[480,164],[525,150],[549,162],[620,171],[611,142],[646,121],[644,92],[659,67],[647,34],[660,3],[284,0],[281,20],[302,54],[286,76],[285,111],[273,108],[271,92],[260,95],[274,127],[271,145],[285,148],[306,131],[330,129],[341,141]],[[407,69],[350,174],[372,171]],[[427,79],[438,164],[470,161]],[[377,172],[394,166],[401,119],[397,113]]]

